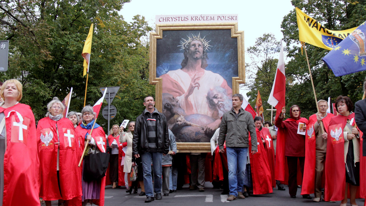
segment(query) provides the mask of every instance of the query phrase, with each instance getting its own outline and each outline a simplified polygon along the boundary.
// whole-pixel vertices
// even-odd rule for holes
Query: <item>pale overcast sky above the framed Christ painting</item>
[[[282,19],[293,9],[290,0],[131,0],[124,4],[120,14],[127,22],[134,15],[145,16],[153,28],[155,15],[238,14],[238,27],[244,31],[244,46],[248,48],[264,33],[274,34],[278,41],[283,38]]]

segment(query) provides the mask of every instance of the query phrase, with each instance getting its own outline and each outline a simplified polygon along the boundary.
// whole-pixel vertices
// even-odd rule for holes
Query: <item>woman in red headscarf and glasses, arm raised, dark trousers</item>
[[[286,166],[288,168],[288,193],[291,198],[296,198],[298,160],[300,162],[301,177],[304,173],[305,162],[305,135],[298,134],[298,127],[303,123],[303,130],[306,131],[308,120],[300,117],[299,106],[292,105],[290,108],[290,118],[283,121],[286,109],[282,108],[281,115],[276,118],[275,125],[279,128],[277,133],[276,148],[276,180],[285,180]],[[286,158],[285,158],[286,157]],[[285,162],[287,161],[287,165]],[[304,194],[303,198],[311,199],[309,194]]]

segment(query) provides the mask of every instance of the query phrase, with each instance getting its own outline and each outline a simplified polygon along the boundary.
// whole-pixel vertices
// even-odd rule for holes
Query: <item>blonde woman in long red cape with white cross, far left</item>
[[[3,206],[40,205],[36,123],[30,106],[20,104],[22,84],[10,79],[0,95],[0,201]],[[3,166],[2,166],[3,165]]]

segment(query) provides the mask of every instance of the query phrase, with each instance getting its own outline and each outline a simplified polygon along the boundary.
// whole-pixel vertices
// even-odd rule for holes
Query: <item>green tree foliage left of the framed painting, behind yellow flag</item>
[[[154,94],[147,75],[149,46],[141,41],[152,28],[139,15],[126,22],[117,13],[126,2],[129,0],[1,0],[0,39],[10,41],[10,55],[9,69],[0,73],[0,79],[22,82],[21,102],[32,107],[36,120],[44,117],[46,104],[54,96],[62,100],[71,87],[69,111],[81,111],[86,83],[81,53],[91,23],[94,33],[86,105],[101,97],[99,87],[120,86],[112,102],[117,115],[111,125],[141,113],[143,98]],[[99,117],[98,123],[106,125]]]

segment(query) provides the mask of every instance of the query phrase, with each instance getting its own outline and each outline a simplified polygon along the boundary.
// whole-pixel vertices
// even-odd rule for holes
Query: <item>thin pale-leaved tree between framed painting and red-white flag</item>
[[[251,63],[246,64],[247,79],[249,81],[245,85],[250,91],[247,93],[249,103],[254,108],[257,99],[257,91],[261,93],[262,104],[264,109],[271,106],[267,103],[269,94],[272,89],[273,80],[275,79],[277,62],[280,52],[280,42],[271,33],[265,33],[257,38],[254,46],[247,48]],[[265,120],[270,120],[270,113],[265,110]]]

